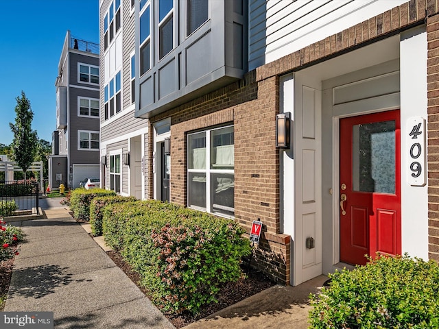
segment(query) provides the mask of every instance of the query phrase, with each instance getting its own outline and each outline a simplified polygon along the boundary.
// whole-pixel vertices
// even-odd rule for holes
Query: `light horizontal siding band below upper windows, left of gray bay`
[[[101,141],[109,141],[147,127],[148,121],[134,117],[134,110],[126,112],[115,121],[101,128]]]

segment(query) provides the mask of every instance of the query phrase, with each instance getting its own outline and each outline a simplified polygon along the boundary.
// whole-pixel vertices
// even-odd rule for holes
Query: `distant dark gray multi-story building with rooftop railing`
[[[99,178],[99,45],[67,31],[56,77],[49,186]]]

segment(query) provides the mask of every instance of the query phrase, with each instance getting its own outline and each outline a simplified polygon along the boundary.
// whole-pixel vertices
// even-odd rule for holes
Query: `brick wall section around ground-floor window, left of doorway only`
[[[253,265],[289,283],[289,236],[278,234],[279,160],[275,147],[278,81],[257,84],[255,71],[243,80],[151,119],[171,117],[170,200],[187,206],[187,133],[233,123],[235,127],[235,219],[248,233],[263,221],[261,248]],[[150,134],[152,147],[152,134]],[[151,186],[152,188],[152,186]]]

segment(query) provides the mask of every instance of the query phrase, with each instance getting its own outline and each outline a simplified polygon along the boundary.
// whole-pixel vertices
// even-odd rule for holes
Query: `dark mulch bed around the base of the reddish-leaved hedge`
[[[128,265],[123,258],[120,256],[118,252],[107,252],[108,256],[112,259],[115,264],[122,269],[123,272],[126,273],[128,278],[132,280],[137,287],[139,287],[140,276],[138,273],[132,271],[130,265]],[[182,328],[195,322],[199,319],[207,317],[213,313],[216,313],[227,306],[233,305],[241,300],[246,299],[256,293],[259,293],[265,289],[268,289],[274,286],[274,282],[270,280],[263,273],[251,269],[249,273],[247,273],[247,278],[239,280],[238,282],[233,282],[230,284],[226,284],[225,287],[221,291],[219,291],[216,304],[209,304],[202,308],[200,314],[192,315],[192,314],[182,314],[182,315],[169,315],[164,314],[171,324],[173,324],[176,328]],[[139,287],[143,293],[148,297],[147,291],[143,287]]]

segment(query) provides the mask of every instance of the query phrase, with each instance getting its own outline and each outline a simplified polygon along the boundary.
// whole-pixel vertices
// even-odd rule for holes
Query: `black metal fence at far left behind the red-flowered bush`
[[[0,184],[0,202],[14,200],[18,212],[16,215],[40,215],[38,203],[40,184],[29,180],[13,180]]]

